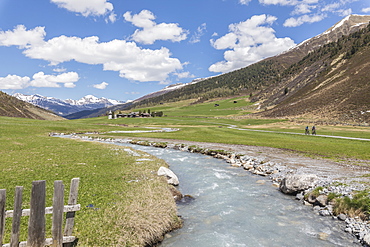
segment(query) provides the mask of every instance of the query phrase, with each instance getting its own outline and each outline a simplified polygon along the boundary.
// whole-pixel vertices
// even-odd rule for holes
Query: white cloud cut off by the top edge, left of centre
[[[107,0],[50,0],[50,2],[85,17],[105,15],[113,10],[113,4]]]

